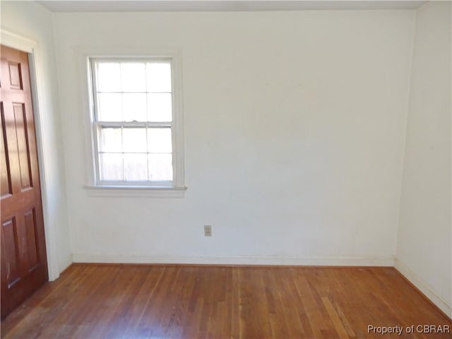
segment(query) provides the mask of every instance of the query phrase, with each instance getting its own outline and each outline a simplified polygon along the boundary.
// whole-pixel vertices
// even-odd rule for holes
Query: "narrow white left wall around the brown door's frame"
[[[49,265],[54,263],[50,278],[72,262],[69,241],[69,219],[66,201],[66,179],[59,118],[59,93],[52,26],[52,13],[34,2],[1,1],[1,29],[37,42],[37,55],[41,82],[37,84],[42,97],[40,107],[45,112],[35,112],[37,137],[43,145],[40,154],[41,189],[44,193],[43,208],[46,218],[47,256]],[[33,100],[37,100],[34,97]],[[54,232],[50,232],[54,230]],[[56,259],[56,261],[55,261]],[[52,270],[52,268],[51,268]]]

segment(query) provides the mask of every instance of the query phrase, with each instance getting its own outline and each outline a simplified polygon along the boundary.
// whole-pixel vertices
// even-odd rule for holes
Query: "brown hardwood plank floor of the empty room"
[[[394,268],[74,264],[2,321],[1,337],[451,338],[417,333],[424,324],[452,326]]]

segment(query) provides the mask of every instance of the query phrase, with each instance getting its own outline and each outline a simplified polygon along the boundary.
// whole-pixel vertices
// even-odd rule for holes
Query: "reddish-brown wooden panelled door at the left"
[[[1,318],[47,280],[28,56],[0,47]]]

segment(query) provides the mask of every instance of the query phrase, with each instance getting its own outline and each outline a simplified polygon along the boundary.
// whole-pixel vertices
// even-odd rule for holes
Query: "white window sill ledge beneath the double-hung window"
[[[112,198],[184,198],[186,187],[85,186],[88,196]]]

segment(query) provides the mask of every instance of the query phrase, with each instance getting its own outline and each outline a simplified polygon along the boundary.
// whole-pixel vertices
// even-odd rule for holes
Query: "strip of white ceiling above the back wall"
[[[346,9],[415,9],[427,1],[36,1],[52,12],[225,12]]]

